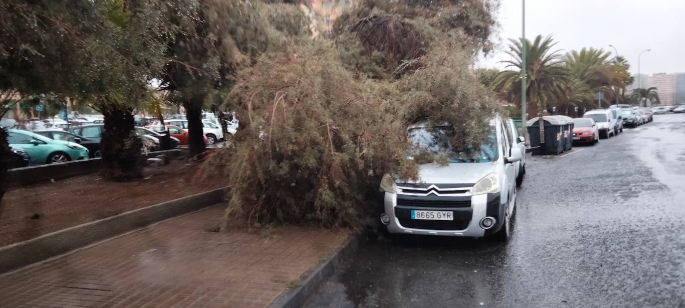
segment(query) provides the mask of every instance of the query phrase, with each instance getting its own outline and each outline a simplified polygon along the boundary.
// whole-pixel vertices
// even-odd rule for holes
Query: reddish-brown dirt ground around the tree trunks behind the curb
[[[144,179],[127,183],[96,173],[12,188],[2,200],[0,246],[225,186],[222,177],[199,172],[197,163],[173,161],[145,168]]]

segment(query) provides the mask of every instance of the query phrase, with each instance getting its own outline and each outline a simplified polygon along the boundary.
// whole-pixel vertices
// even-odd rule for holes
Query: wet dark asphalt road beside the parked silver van
[[[307,307],[685,307],[685,114],[530,157],[513,237],[366,242]]]

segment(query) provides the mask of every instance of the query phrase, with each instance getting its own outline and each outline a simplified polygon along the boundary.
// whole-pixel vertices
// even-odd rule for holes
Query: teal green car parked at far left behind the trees
[[[52,140],[37,133],[18,129],[9,129],[7,133],[7,141],[10,143],[10,146],[24,149],[29,153],[31,165],[88,159],[88,149],[81,144]]]

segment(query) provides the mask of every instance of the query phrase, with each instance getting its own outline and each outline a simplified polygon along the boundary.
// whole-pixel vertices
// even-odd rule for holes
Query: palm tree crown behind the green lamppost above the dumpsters
[[[506,52],[513,60],[501,61],[506,68],[497,75],[495,84],[502,89],[509,101],[521,99],[521,51],[523,39],[510,39]],[[558,94],[569,85],[569,75],[559,51],[552,51],[556,42],[551,36],[537,36],[534,42],[525,40],[526,98],[530,102],[528,115],[537,116],[537,110],[556,105]],[[532,117],[531,116],[531,117]]]

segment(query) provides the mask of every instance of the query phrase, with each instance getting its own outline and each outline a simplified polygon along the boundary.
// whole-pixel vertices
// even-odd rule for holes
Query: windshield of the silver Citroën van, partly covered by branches
[[[449,162],[493,162],[497,160],[495,127],[490,126],[484,142],[474,148],[471,144],[455,143],[455,131],[451,126],[419,127],[409,129],[408,140],[416,149],[437,155],[447,155]]]

